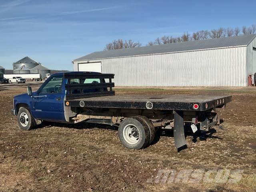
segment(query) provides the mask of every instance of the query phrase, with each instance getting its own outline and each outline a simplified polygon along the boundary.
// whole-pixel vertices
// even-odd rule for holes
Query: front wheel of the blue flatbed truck
[[[27,108],[21,107],[18,112],[18,125],[22,130],[31,130],[35,125],[35,120]]]

